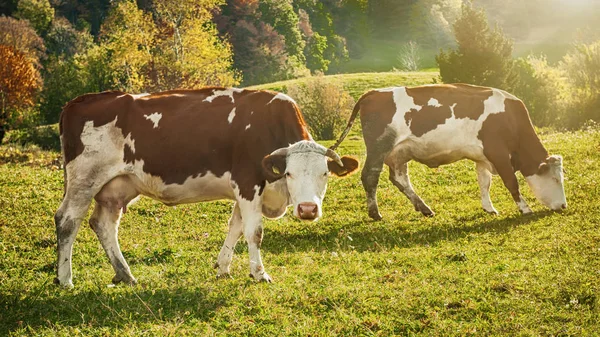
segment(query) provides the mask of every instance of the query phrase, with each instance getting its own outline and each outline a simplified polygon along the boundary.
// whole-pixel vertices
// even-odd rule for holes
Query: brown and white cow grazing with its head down
[[[531,212],[519,192],[516,171],[544,205],[553,210],[567,207],[562,157],[548,156],[525,105],[505,91],[467,84],[369,91],[356,103],[348,127],[332,149],[348,134],[359,111],[367,147],[362,183],[373,219],[381,219],[376,191],[384,163],[390,168],[390,180],[415,210],[434,214],[412,188],[410,160],[429,167],[475,161],[481,203],[489,213],[498,213],[489,195],[492,173],[500,175],[519,210]]]

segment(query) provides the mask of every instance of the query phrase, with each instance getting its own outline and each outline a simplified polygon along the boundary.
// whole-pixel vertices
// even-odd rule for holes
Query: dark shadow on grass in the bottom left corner
[[[119,285],[118,287],[127,287]],[[225,298],[207,296],[209,289],[168,288],[128,289],[97,288],[95,290],[63,290],[47,282],[28,294],[7,295],[0,291],[0,335],[27,328],[108,327],[123,328],[133,322],[206,322]]]

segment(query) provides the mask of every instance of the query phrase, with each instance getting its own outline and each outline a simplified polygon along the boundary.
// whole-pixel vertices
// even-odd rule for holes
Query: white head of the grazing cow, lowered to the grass
[[[550,156],[540,164],[537,173],[525,177],[535,197],[555,211],[567,208],[563,172],[562,157]]]

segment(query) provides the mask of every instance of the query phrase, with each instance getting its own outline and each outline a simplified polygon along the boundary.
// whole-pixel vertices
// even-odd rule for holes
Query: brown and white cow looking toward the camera
[[[113,282],[136,282],[117,230],[138,195],[167,205],[234,200],[217,276],[229,274],[244,235],[251,276],[270,282],[259,250],[262,215],[281,217],[293,204],[296,217],[315,220],[322,215],[328,172],[344,176],[358,168],[355,159],[312,141],[290,97],[267,91],[83,95],[64,107],[60,134],[65,194],[55,215],[55,282],[67,287],[73,285],[73,241],[92,199],[89,223],[115,270]]]

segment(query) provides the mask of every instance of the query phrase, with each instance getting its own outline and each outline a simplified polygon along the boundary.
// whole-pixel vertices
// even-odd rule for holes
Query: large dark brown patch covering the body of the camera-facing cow
[[[130,135],[135,144],[135,151],[125,146],[125,162],[143,160],[144,172],[165,184],[231,172],[242,197],[252,200],[255,186],[259,193],[265,186],[263,157],[308,139],[306,124],[292,102],[271,102],[275,93],[243,90],[234,92],[233,100],[218,96],[204,101],[217,90],[226,89],[176,90],[141,99],[120,92],[77,98],[65,106],[60,121],[65,164],[83,152],[80,136],[86,122],[99,127],[116,118],[123,137]],[[229,123],[233,108],[235,118]],[[157,128],[144,116],[153,113],[162,115]]]

